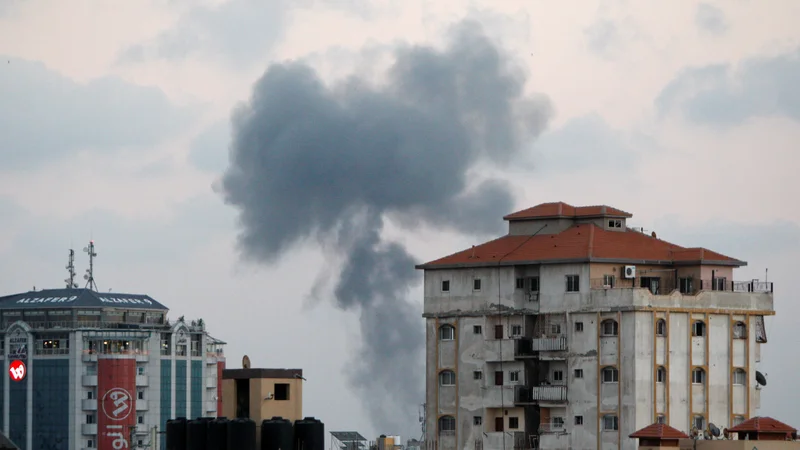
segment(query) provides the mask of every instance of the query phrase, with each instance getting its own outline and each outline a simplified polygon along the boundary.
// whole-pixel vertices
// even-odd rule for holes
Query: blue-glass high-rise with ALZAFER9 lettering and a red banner
[[[168,419],[216,417],[225,343],[167,312],[90,289],[0,297],[4,433],[23,450],[134,449]]]

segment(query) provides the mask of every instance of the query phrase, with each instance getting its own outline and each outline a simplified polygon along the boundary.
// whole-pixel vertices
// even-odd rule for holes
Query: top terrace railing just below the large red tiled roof
[[[643,276],[637,278],[593,278],[590,287],[593,290],[603,289],[649,289],[654,295],[669,295],[673,291],[678,291],[684,295],[697,295],[700,291],[722,291],[722,292],[751,292],[769,293],[773,292],[771,281],[728,281],[725,278],[675,278],[673,275],[665,276],[663,272],[657,276]]]

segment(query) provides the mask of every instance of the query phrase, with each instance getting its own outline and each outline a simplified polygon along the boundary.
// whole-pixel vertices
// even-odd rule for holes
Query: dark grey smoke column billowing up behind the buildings
[[[387,82],[354,76],[333,88],[302,63],[275,64],[233,116],[222,180],[240,212],[243,256],[272,263],[307,238],[335,242],[345,263],[336,305],[361,317],[361,353],[347,366],[382,433],[417,435],[424,398],[424,327],[407,301],[414,258],[381,238],[387,216],[463,233],[492,233],[512,209],[477,165],[517,159],[545,127],[549,102],[477,24],[451,30],[444,51],[396,52]]]

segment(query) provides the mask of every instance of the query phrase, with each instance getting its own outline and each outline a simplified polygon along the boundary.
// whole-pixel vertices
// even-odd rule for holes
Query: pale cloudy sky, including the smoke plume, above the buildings
[[[329,430],[406,438],[424,401],[413,263],[514,209],[608,204],[748,261],[739,279],[769,269],[762,413],[800,425],[782,354],[800,345],[799,15],[5,0],[0,287],[62,286],[68,248],[94,238],[101,290],[204,318],[233,366],[303,368],[304,412]]]

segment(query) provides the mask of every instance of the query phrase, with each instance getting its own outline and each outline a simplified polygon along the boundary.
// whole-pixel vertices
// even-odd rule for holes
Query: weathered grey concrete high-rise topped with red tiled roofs
[[[688,433],[756,415],[772,284],[631,217],[541,204],[418,266],[429,448],[634,449],[654,422]]]

